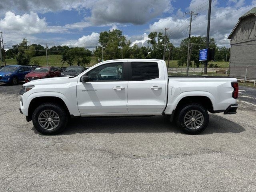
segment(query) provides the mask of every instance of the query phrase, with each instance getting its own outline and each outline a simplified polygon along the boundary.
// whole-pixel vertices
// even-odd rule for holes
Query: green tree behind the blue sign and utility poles
[[[190,66],[192,66],[192,61],[194,61],[194,66],[199,66],[199,50],[206,48],[206,37],[195,37],[192,36],[190,38],[190,45],[192,46],[192,52],[190,56]],[[216,48],[216,44],[214,38],[210,38],[209,48]],[[187,57],[188,57],[188,38],[185,38],[180,43],[180,50],[181,50],[181,58],[178,61],[178,66],[186,65]]]

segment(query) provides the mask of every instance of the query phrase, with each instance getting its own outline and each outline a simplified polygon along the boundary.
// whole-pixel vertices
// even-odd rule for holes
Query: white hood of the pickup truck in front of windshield
[[[46,79],[38,79],[34,81],[30,81],[25,83],[24,85],[54,85],[54,84],[66,84],[69,82],[77,81],[77,77],[70,78],[70,77],[54,77],[54,78],[46,78]]]

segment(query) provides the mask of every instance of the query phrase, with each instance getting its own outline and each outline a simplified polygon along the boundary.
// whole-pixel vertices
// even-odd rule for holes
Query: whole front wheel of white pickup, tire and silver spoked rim
[[[38,106],[32,115],[34,128],[44,135],[62,132],[68,124],[68,112],[54,103]]]

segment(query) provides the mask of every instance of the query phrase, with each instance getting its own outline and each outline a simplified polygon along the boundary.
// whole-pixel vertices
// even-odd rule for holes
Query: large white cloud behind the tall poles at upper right
[[[214,38],[217,41],[218,45],[227,45],[230,43],[227,40],[227,36],[230,34],[232,29],[238,22],[238,18],[246,13],[248,10],[252,9],[253,6],[243,7],[243,0],[235,0],[235,4],[233,6],[215,6],[219,3],[220,2],[218,1],[214,1],[212,4],[210,37]],[[188,8],[188,10],[194,9],[195,11],[198,10],[199,12],[199,14],[195,18],[193,16],[191,29],[192,36],[206,36],[208,4],[206,3],[206,7],[202,7],[206,4],[198,7],[198,5],[200,4],[202,4],[202,1],[192,0]],[[168,35],[171,39],[171,42],[179,44],[183,38],[188,37],[188,26],[189,15],[182,18],[182,20],[177,20],[176,16],[170,16],[166,18],[161,18],[157,22],[154,22],[154,24],[151,24],[149,26],[149,30],[162,32],[164,28],[169,27],[171,29],[168,30]]]

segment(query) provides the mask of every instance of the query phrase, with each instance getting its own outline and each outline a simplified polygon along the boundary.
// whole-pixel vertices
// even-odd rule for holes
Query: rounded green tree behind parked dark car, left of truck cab
[[[88,49],[83,47],[74,47],[66,49],[62,52],[62,65],[64,62],[67,62],[70,66],[73,64],[77,64],[78,66],[85,66],[86,64],[90,63],[90,56],[92,52]]]

